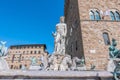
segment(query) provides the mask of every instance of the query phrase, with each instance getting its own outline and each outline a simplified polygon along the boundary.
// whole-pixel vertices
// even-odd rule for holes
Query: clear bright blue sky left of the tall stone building
[[[0,41],[7,47],[46,44],[52,53],[52,32],[63,15],[64,0],[0,0]]]

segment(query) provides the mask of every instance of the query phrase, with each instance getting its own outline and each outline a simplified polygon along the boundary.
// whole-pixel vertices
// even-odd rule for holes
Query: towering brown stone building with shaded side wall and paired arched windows
[[[112,38],[120,48],[120,0],[65,0],[66,53],[105,70]]]

